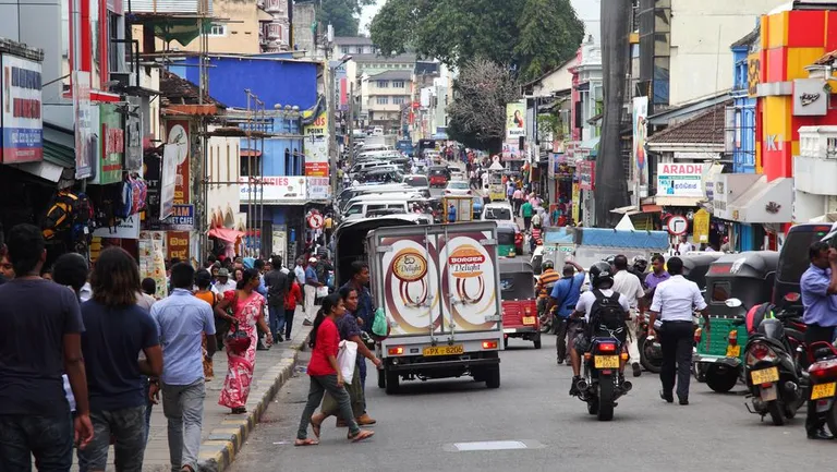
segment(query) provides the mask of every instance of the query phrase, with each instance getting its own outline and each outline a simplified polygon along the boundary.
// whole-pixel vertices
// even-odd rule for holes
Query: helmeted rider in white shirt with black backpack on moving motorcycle
[[[572,313],[574,317],[584,317],[585,322],[590,322],[593,311],[597,308],[598,296],[612,296],[615,292],[614,287],[614,273],[610,265],[606,262],[593,264],[590,268],[590,286],[591,290],[584,292],[579,298],[579,302],[575,304],[575,311]],[[623,294],[619,294],[619,305],[628,313],[631,308],[628,303],[628,298]],[[570,360],[572,361],[572,385],[570,386],[570,395],[579,395],[578,383],[581,379],[581,356],[590,349],[590,341],[593,329],[590,327],[582,330],[575,336],[573,342],[574,349],[570,350]],[[622,339],[624,341],[624,339]],[[619,374],[624,372],[624,364],[619,366]]]

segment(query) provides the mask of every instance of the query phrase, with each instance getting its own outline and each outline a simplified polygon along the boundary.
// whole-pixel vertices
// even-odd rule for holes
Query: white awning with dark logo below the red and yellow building
[[[767,182],[767,177],[762,176],[728,207],[736,221],[790,222],[793,215],[793,180],[783,177]]]

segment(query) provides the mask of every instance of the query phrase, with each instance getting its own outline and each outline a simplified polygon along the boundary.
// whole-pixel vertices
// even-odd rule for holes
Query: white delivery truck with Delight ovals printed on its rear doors
[[[493,221],[379,228],[366,238],[372,291],[390,336],[378,387],[471,375],[500,386],[502,320]]]

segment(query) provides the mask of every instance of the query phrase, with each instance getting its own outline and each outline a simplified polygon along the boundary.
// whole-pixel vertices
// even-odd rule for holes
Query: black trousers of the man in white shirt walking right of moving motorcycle
[[[692,322],[663,322],[659,329],[659,347],[663,351],[659,380],[663,384],[664,394],[671,394],[675,389],[675,377],[677,377],[677,396],[680,399],[689,398],[693,342]]]

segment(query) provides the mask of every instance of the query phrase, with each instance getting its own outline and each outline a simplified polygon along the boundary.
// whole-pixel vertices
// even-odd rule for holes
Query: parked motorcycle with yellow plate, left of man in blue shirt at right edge
[[[729,299],[726,304],[732,308],[741,307],[738,299]],[[744,347],[743,374],[753,408],[744,404],[748,411],[762,419],[769,414],[776,426],[792,419],[806,398],[808,380],[802,375],[794,348],[801,343],[803,335],[786,326],[797,317],[796,312],[779,310],[774,317],[751,320],[752,325],[748,327],[752,332]]]

